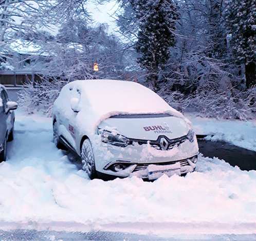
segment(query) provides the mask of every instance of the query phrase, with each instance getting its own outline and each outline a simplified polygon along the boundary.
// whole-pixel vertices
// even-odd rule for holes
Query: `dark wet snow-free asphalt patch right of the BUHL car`
[[[241,170],[256,170],[256,152],[236,147],[224,142],[211,142],[197,139],[199,152],[204,156],[224,159],[231,166],[238,166]]]

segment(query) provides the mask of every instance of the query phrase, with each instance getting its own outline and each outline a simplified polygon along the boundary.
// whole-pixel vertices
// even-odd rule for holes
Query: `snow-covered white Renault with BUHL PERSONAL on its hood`
[[[198,144],[191,123],[152,90],[127,81],[74,81],[53,105],[53,142],[79,156],[90,178],[194,171]]]

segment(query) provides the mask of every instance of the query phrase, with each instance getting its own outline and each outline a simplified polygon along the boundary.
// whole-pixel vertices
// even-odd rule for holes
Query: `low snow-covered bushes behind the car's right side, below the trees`
[[[203,117],[241,119],[241,121],[256,116],[256,86],[236,95],[205,90],[189,96],[175,91],[162,97],[170,106],[183,113],[197,112]]]

